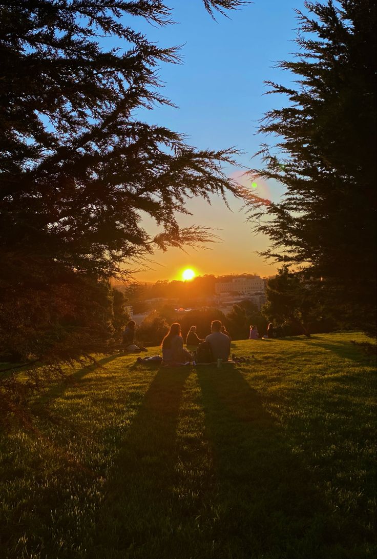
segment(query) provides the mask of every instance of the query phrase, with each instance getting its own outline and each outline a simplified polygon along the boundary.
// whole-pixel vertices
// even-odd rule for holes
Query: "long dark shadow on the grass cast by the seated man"
[[[238,369],[199,369],[218,480],[218,557],[325,557],[325,506]]]

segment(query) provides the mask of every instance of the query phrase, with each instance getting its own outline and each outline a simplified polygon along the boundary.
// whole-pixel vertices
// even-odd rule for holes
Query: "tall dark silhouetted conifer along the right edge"
[[[268,82],[290,105],[266,114],[260,130],[279,141],[262,146],[265,168],[255,170],[287,193],[254,212],[256,230],[272,241],[265,256],[316,280],[333,315],[375,333],[376,6],[327,0],[305,7],[307,14],[297,12],[300,53],[279,64],[298,87]]]

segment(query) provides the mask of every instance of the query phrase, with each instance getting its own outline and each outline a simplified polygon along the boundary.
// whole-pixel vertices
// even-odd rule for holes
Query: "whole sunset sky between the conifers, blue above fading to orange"
[[[174,25],[151,26],[135,18],[128,22],[161,46],[183,45],[183,64],[162,64],[164,82],[161,91],[178,108],[156,107],[137,116],[149,123],[161,124],[186,135],[197,148],[242,150],[237,158],[243,168],[258,167],[252,159],[261,143],[272,141],[257,134],[258,121],[271,108],[287,103],[283,96],[266,95],[265,80],[289,83],[288,72],[274,68],[279,60],[292,59],[297,45],[297,19],[294,8],[303,9],[303,0],[255,0],[249,6],[228,12],[213,21],[201,0],[167,0],[173,9]],[[235,169],[226,169],[227,174]],[[257,191],[263,197],[278,200],[283,186],[264,183]],[[179,217],[182,226],[202,225],[214,229],[221,238],[208,249],[169,249],[156,252],[149,267],[134,275],[139,282],[181,279],[183,269],[199,275],[255,272],[270,276],[276,272],[273,262],[256,254],[269,246],[269,239],[251,233],[242,202],[228,197],[231,210],[216,197],[207,202],[190,200],[192,216]],[[145,222],[151,233],[155,228]]]

